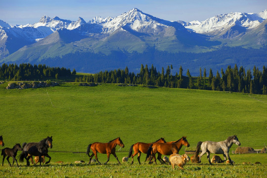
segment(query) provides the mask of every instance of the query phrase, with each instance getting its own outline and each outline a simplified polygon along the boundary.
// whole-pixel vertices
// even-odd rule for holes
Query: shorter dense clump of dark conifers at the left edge
[[[62,76],[70,76],[70,69],[49,67],[45,64],[32,65],[32,64],[2,64],[0,66],[0,78],[10,81],[32,80],[32,79],[44,79],[55,78]]]

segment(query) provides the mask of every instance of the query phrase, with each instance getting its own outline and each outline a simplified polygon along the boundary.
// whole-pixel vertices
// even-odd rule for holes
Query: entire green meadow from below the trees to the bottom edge
[[[0,85],[4,147],[38,142],[52,135],[53,148],[48,152],[52,157],[48,166],[26,168],[24,162],[19,163],[23,165],[20,168],[9,168],[5,160],[0,166],[1,177],[240,177],[245,173],[248,177],[265,177],[266,154],[231,154],[237,145],[230,150],[235,166],[207,165],[206,155],[201,164],[189,163],[184,171],[172,170],[169,165],[139,166],[136,156],[134,165],[117,166],[112,155],[108,165],[73,162],[89,161],[85,154],[89,143],[108,142],[118,136],[125,144],[125,148],[116,147],[120,161],[135,142],[153,142],[160,137],[173,141],[183,135],[192,149],[198,141],[222,141],[234,134],[241,146],[261,149],[267,144],[267,95],[112,84],[80,87],[78,83],[62,83],[41,89],[6,86]],[[98,159],[104,163],[107,157],[98,154]],[[141,162],[144,159],[142,154]],[[64,163],[58,165],[56,161]]]

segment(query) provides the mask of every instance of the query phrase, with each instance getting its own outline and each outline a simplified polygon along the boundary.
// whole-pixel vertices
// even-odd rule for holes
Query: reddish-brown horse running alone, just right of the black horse
[[[113,154],[113,156],[117,159],[119,164],[121,164],[119,159],[118,159],[118,157],[117,157],[117,155],[116,155],[116,153],[115,153],[117,144],[124,148],[124,144],[123,144],[123,142],[122,142],[120,137],[115,138],[113,140],[110,140],[108,143],[94,142],[92,144],[89,144],[88,147],[87,147],[87,152],[86,152],[86,154],[90,157],[89,164],[91,163],[91,159],[92,159],[92,157],[94,155],[95,155],[96,161],[99,164],[101,164],[98,161],[97,152],[102,153],[102,154],[107,154],[108,159],[104,164],[107,164],[107,162],[109,161],[110,154]],[[92,149],[92,152],[93,152],[91,154],[91,156],[89,155],[90,148]]]

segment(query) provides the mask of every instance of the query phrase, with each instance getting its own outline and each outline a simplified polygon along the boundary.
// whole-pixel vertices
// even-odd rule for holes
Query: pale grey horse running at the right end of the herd
[[[209,160],[209,163],[211,163],[210,160],[210,153],[215,153],[215,154],[223,154],[224,157],[224,161],[226,161],[226,157],[228,158],[228,160],[230,161],[231,164],[232,160],[230,159],[229,156],[229,149],[232,146],[232,144],[235,143],[238,146],[241,145],[241,143],[239,142],[238,138],[236,135],[233,136],[229,136],[226,140],[224,141],[219,141],[219,142],[215,142],[215,141],[199,141],[197,143],[197,148],[196,148],[196,152],[199,152],[199,149],[201,147],[202,153],[199,155],[199,163],[201,162],[201,157],[207,153],[207,158]],[[197,157],[197,155],[195,155]],[[223,161],[223,162],[224,162]]]

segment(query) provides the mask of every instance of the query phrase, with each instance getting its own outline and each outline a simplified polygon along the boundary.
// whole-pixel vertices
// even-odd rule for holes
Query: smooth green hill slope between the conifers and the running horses
[[[80,87],[76,83],[7,90],[6,85],[0,85],[0,135],[6,147],[40,141],[47,135],[53,135],[51,151],[74,152],[85,152],[89,143],[118,136],[125,144],[122,151],[129,151],[135,142],[160,137],[172,141],[183,135],[190,147],[234,134],[241,146],[260,149],[267,143],[266,95],[106,84]],[[103,157],[101,162],[106,161]]]

